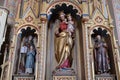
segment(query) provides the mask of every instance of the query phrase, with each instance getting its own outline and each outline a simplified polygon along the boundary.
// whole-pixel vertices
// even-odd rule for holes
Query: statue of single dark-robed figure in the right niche
[[[108,46],[102,40],[100,35],[97,35],[95,40],[94,54],[96,73],[97,74],[108,73],[110,70]]]

